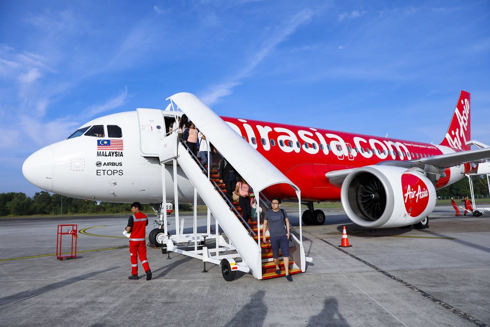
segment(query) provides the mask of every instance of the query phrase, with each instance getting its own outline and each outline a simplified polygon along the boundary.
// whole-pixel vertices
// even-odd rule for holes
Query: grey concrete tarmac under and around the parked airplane
[[[228,282],[219,266],[203,273],[202,261],[152,248],[153,278],[140,265],[129,280],[128,216],[0,219],[0,326],[490,325],[488,212],[438,206],[430,228],[370,230],[328,209],[324,225],[303,227],[313,262],[293,282]],[[58,224],[78,225],[76,259],[56,259]],[[350,248],[338,247],[343,226]]]

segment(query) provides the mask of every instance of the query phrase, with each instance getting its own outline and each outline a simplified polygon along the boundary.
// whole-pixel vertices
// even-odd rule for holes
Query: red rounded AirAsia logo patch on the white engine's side
[[[413,174],[401,176],[401,188],[405,209],[412,217],[419,216],[429,204],[429,190],[422,179]]]

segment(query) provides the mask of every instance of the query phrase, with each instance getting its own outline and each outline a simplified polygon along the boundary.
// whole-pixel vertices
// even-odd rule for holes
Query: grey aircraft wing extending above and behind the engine
[[[448,167],[461,165],[467,162],[476,162],[490,159],[490,148],[462,151],[455,153],[440,154],[433,157],[426,157],[411,161],[390,161],[380,162],[379,164],[390,164],[393,166],[402,166],[411,168],[412,165],[416,166],[417,163],[423,163],[425,165],[431,165],[439,170],[444,170]],[[343,180],[347,175],[352,173],[355,168],[334,170],[325,174],[328,181],[335,186],[341,187]]]

